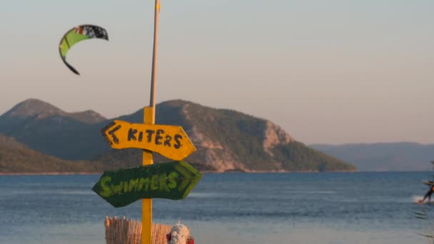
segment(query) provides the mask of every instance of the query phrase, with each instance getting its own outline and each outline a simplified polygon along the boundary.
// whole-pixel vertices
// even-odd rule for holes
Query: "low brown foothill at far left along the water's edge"
[[[66,161],[34,151],[0,134],[0,173],[83,173],[102,171],[101,163]]]

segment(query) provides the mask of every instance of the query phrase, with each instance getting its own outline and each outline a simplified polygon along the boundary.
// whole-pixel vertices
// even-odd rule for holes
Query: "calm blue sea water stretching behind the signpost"
[[[428,243],[412,198],[430,174],[205,174],[186,200],[153,200],[153,220],[206,244]],[[141,218],[140,201],[113,208],[92,192],[98,179],[0,176],[0,243],[104,244],[106,215]]]

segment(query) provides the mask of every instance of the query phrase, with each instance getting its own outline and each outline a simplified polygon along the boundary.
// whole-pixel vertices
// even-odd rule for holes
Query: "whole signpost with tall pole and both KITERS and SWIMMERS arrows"
[[[151,244],[152,240],[152,198],[183,199],[201,178],[201,173],[181,161],[196,151],[183,128],[155,125],[159,15],[160,0],[155,0],[151,99],[143,109],[143,124],[113,121],[102,130],[112,148],[143,149],[142,167],[106,171],[92,189],[115,207],[142,198],[142,244]],[[181,162],[154,166],[153,152]]]

